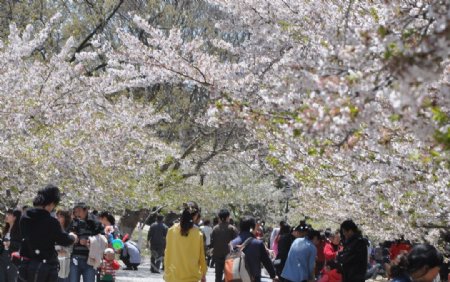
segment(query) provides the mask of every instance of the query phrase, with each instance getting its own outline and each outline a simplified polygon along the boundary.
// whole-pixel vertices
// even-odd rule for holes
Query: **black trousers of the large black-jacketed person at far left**
[[[58,281],[58,263],[42,261],[22,262],[19,266],[18,282],[56,282]]]

